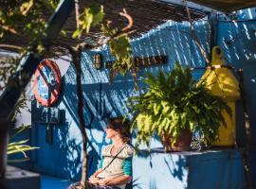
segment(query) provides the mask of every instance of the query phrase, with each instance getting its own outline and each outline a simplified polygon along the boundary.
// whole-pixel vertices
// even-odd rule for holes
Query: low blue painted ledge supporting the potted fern
[[[134,158],[134,189],[246,188],[242,151],[163,153]]]

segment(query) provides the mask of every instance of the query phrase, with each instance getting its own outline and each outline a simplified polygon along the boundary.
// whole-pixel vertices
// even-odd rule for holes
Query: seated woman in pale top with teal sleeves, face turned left
[[[113,143],[102,149],[101,168],[89,178],[87,188],[124,189],[132,180],[134,148],[129,145],[129,126],[122,117],[109,119],[105,131]]]

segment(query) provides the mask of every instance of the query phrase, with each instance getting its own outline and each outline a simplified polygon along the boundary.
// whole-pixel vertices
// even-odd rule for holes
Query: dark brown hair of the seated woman
[[[130,143],[131,132],[130,122],[123,117],[113,117],[108,119],[108,128],[119,131],[120,136],[125,143]]]

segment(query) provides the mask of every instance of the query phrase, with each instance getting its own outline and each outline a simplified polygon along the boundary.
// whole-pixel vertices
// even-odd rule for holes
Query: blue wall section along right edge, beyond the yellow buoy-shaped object
[[[242,68],[244,90],[250,123],[250,178],[256,188],[256,9],[246,9],[236,15],[238,22],[233,24],[220,21],[218,44],[224,49],[226,60],[235,68]],[[239,138],[243,138],[242,131]]]

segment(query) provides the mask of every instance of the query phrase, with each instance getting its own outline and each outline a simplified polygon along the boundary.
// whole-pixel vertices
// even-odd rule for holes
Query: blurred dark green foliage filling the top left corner
[[[27,51],[45,51],[42,40],[46,35],[46,20],[54,12],[59,0],[3,0],[0,7],[0,37],[26,41],[20,46]]]

